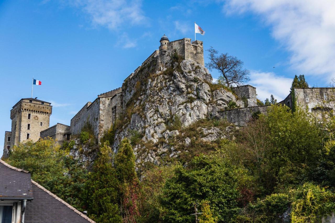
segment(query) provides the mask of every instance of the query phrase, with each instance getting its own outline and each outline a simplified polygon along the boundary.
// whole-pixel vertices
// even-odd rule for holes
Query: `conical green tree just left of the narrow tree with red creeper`
[[[93,171],[86,182],[84,206],[90,218],[97,222],[122,222],[119,208],[119,185],[112,165],[112,149],[105,142],[100,147]]]

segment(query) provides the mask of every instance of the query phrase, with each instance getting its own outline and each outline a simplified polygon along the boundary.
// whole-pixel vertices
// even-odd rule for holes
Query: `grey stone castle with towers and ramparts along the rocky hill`
[[[169,41],[165,34],[160,39],[160,46],[123,82],[122,87],[97,95],[93,102],[87,102],[71,119],[70,126],[57,123],[49,127],[52,105],[50,102],[36,98],[20,99],[10,111],[12,120],[11,131],[5,132],[3,158],[10,154],[12,146],[25,140],[38,141],[40,138],[51,137],[58,143],[70,140],[71,135],[78,135],[85,124],[89,123],[94,136],[99,140],[106,130],[109,130],[123,114],[126,105],[136,92],[137,83],[142,80],[142,72],[155,67],[156,72],[162,72],[166,65],[178,54],[183,60],[190,60],[204,66],[203,42],[184,38]],[[147,74],[149,75],[149,74]],[[235,87],[234,92],[239,98],[245,98],[244,107],[220,111],[221,118],[244,126],[255,113],[267,112],[267,106],[257,105],[256,88],[251,85]],[[293,98],[298,106],[309,108],[311,112],[321,109],[319,101],[334,95],[333,88],[295,88],[294,95],[289,94],[279,102],[292,107]],[[292,98],[293,97],[293,98]]]

